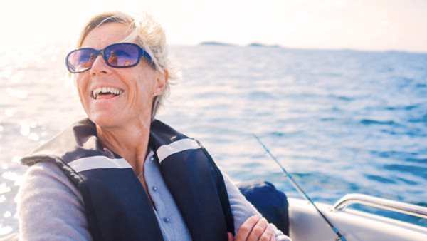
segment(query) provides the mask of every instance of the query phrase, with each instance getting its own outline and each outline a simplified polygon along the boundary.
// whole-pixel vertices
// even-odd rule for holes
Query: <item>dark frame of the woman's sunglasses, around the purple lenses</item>
[[[108,63],[107,56],[105,56],[105,49],[106,49],[106,48],[110,48],[111,46],[116,46],[116,45],[126,45],[126,46],[131,45],[131,46],[136,46],[136,47],[137,47],[137,49],[138,49],[138,59],[137,59],[137,62],[136,62],[136,63],[134,63],[134,64],[132,64],[132,65],[130,65],[130,66],[113,66],[113,65],[111,65],[110,63]],[[149,56],[149,54],[148,54],[146,51],[144,51],[144,49],[143,49],[143,48],[141,48],[141,47],[140,47],[139,45],[137,45],[136,43],[112,43],[112,44],[110,44],[109,46],[106,46],[105,48],[102,48],[102,49],[100,49],[100,50],[97,50],[97,49],[95,49],[95,48],[77,48],[77,49],[75,49],[75,50],[71,51],[70,53],[68,53],[68,54],[67,54],[67,56],[65,57],[65,66],[67,66],[68,71],[69,71],[70,73],[82,73],[82,72],[88,71],[88,70],[90,70],[90,69],[92,68],[93,63],[92,63],[92,65],[91,65],[88,69],[85,69],[85,70],[83,70],[83,71],[71,71],[70,66],[68,65],[68,58],[70,57],[70,55],[71,55],[72,53],[74,53],[74,52],[76,52],[76,51],[80,51],[80,50],[86,50],[86,49],[87,49],[87,50],[90,50],[90,51],[93,51],[94,56],[95,56],[94,61],[95,61],[95,59],[97,58],[97,56],[99,56],[99,55],[101,54],[101,55],[102,55],[102,58],[104,58],[104,61],[105,61],[105,63],[107,64],[107,66],[110,66],[110,67],[112,67],[112,68],[130,68],[130,67],[133,67],[133,66],[137,66],[137,65],[138,65],[138,63],[139,63],[139,61],[141,61],[142,56],[144,56],[145,58],[147,58],[147,61],[149,62],[149,64],[150,64],[151,66],[155,67],[155,65],[154,65],[154,61],[152,61],[152,57],[151,57],[151,56]]]

